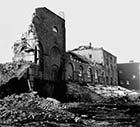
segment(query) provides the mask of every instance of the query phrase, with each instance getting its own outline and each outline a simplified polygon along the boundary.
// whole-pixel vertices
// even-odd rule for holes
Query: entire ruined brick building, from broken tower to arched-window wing
[[[117,85],[116,57],[91,46],[66,52],[65,20],[47,8],[35,10],[29,30],[14,44],[14,54],[13,61],[35,63],[27,75],[43,96],[63,96],[68,81]]]

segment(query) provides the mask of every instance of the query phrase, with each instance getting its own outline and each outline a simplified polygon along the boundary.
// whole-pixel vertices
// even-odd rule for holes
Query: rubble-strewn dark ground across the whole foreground
[[[0,100],[0,126],[4,127],[133,127],[139,117],[138,97],[135,101],[120,96],[94,103],[61,103],[30,92]]]

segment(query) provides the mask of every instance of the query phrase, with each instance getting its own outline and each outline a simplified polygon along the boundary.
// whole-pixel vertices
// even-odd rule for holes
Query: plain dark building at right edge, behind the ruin
[[[127,89],[140,90],[140,63],[118,64],[118,84]]]

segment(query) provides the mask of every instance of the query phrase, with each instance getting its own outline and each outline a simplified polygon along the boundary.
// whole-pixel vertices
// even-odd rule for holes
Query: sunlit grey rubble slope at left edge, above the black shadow
[[[0,86],[15,77],[20,79],[30,65],[30,62],[24,61],[0,64]]]

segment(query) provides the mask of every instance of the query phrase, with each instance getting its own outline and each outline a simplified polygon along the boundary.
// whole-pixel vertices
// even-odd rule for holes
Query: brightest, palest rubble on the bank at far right
[[[136,104],[139,103],[140,94],[136,91],[125,89],[121,86],[88,85],[87,88],[104,98],[108,104]]]

